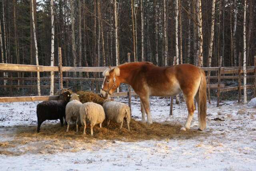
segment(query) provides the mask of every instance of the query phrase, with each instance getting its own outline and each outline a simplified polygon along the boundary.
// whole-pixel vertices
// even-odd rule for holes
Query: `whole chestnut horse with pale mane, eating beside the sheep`
[[[149,62],[125,63],[103,72],[100,94],[108,98],[120,83],[131,85],[140,96],[142,122],[145,112],[152,124],[149,96],[174,96],[183,92],[188,108],[188,118],[181,130],[188,130],[194,115],[194,98],[198,103],[199,130],[206,128],[206,78],[200,68],[191,64],[157,67]]]

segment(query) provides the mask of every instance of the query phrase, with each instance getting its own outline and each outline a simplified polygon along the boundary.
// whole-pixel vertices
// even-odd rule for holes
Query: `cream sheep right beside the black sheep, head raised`
[[[79,109],[82,106],[78,96],[76,93],[71,94],[70,100],[66,105],[66,122],[68,124],[66,132],[68,132],[71,121],[76,122],[76,132],[78,132],[78,124],[80,124]]]

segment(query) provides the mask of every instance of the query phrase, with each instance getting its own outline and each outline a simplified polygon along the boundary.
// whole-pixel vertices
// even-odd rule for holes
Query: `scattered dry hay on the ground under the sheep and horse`
[[[43,124],[41,132],[36,132],[36,126],[17,126],[13,128],[13,139],[0,143],[0,154],[22,155],[30,154],[52,154],[59,152],[76,152],[86,149],[107,148],[116,140],[123,142],[136,142],[143,140],[166,140],[166,139],[189,139],[197,136],[205,136],[206,133],[197,130],[180,131],[180,125],[160,124],[153,122],[152,125],[142,124],[136,120],[130,122],[130,132],[124,124],[122,130],[119,124],[110,123],[106,128],[94,127],[94,136],[90,136],[90,128],[86,129],[86,135],[75,132],[75,126],[71,126],[66,133],[66,126],[60,124]],[[89,127],[89,125],[88,125]],[[102,142],[100,140],[107,140]]]

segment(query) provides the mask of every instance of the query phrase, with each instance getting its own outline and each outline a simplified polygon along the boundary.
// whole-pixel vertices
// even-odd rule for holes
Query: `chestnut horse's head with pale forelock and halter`
[[[100,96],[108,98],[120,85],[120,81],[118,80],[120,69],[118,67],[110,67],[102,75],[104,76],[104,81],[100,90]]]

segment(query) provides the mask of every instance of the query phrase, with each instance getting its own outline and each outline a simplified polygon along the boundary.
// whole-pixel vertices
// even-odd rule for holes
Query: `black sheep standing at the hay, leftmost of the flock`
[[[40,126],[45,120],[60,119],[61,126],[63,126],[63,118],[65,118],[66,104],[69,102],[70,92],[66,91],[60,94],[58,100],[43,101],[36,106],[37,114],[37,132],[40,132]]]

